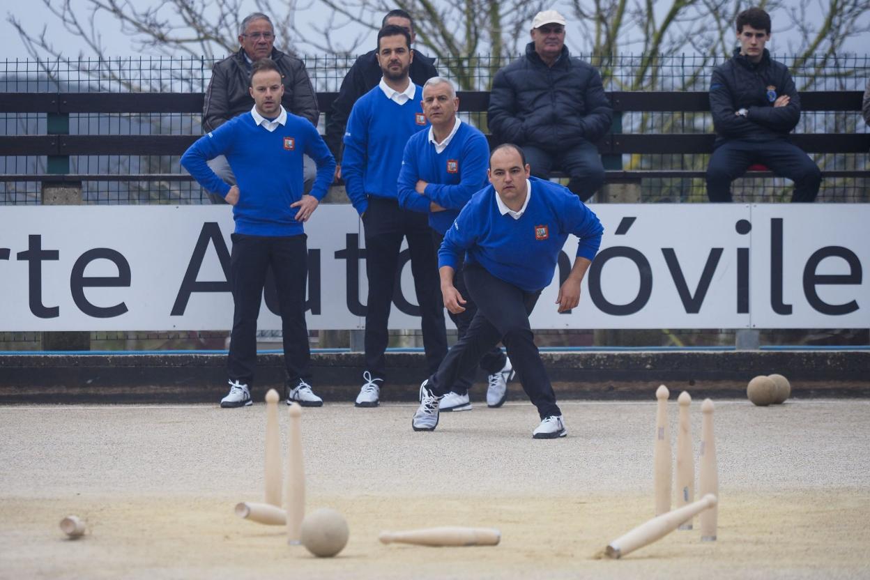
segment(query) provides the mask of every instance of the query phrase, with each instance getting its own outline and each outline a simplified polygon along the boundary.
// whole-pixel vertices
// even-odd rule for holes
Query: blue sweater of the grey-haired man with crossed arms
[[[405,145],[402,170],[398,173],[398,204],[407,210],[429,214],[429,225],[442,236],[459,210],[486,185],[489,143],[484,134],[461,123],[445,150],[438,153],[429,141],[429,130],[415,133]],[[418,180],[427,182],[423,195]],[[430,203],[444,211],[430,212]]]

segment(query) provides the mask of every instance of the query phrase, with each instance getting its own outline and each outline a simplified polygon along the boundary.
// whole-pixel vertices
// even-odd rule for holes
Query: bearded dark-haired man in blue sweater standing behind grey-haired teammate
[[[396,182],[408,138],[428,123],[420,108],[422,89],[411,82],[413,54],[408,31],[388,24],[378,32],[377,87],[354,103],[345,132],[342,175],[353,207],[365,226],[365,371],[358,407],[377,407],[386,378],[387,321],[396,284],[398,254],[408,240],[414,290],[422,318],[423,345],[430,371],[447,351],[444,308],[438,297],[438,261],[426,216],[398,205]]]

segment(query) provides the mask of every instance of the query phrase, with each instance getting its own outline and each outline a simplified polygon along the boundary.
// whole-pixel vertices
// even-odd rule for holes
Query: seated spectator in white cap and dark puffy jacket
[[[554,167],[569,177],[568,189],[586,201],[604,183],[595,143],[610,129],[612,109],[601,76],[571,57],[565,17],[539,12],[525,56],[492,80],[489,127],[499,143],[523,148],[532,175],[548,179]]]

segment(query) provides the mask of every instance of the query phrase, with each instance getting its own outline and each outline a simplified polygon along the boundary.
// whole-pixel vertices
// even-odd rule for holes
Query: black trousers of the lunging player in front
[[[529,325],[529,314],[538,302],[540,290],[520,290],[478,264],[465,264],[465,285],[478,304],[478,312],[465,336],[453,345],[438,371],[429,377],[430,388],[436,395],[445,395],[458,377],[477,366],[484,353],[500,340],[505,343],[507,356],[511,357],[523,390],[538,408],[539,416],[543,419],[561,415]]]

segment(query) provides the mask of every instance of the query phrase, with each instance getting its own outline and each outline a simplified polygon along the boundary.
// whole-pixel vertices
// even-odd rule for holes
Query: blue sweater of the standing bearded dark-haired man
[[[414,97],[400,105],[376,86],[354,103],[345,132],[341,177],[360,216],[369,206],[367,196],[398,197],[396,180],[405,143],[429,126],[420,109],[422,94],[415,84]]]

